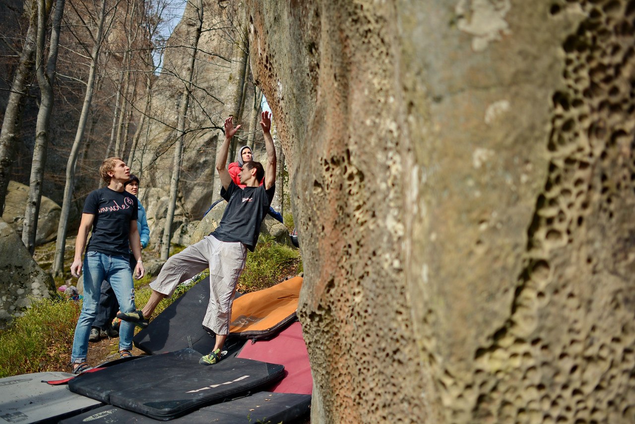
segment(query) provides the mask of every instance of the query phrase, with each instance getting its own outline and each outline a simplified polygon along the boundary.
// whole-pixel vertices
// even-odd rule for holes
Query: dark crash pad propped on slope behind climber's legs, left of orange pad
[[[237,296],[240,296],[238,292]],[[137,332],[132,339],[133,343],[150,355],[185,348],[210,353],[216,340],[202,324],[209,301],[210,277],[207,277],[154,317],[145,329]],[[244,340],[233,339],[230,336],[225,341],[224,349],[231,354],[243,345]]]

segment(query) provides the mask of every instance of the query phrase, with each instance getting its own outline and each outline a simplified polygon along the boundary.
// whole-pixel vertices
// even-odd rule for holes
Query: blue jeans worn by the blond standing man
[[[86,360],[88,353],[88,336],[90,327],[97,315],[100,289],[102,281],[106,280],[119,301],[119,310],[132,312],[135,310],[135,286],[130,271],[130,257],[107,255],[100,252],[86,252],[84,256],[84,305],[73,339],[73,349],[70,362],[77,363]],[[135,324],[121,322],[119,327],[119,350],[132,348],[132,336]]]

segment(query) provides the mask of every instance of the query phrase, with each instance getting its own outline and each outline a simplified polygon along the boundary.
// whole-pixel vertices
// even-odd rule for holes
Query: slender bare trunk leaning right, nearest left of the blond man
[[[102,0],[101,10],[99,14],[99,24],[97,26],[97,38],[95,38],[95,46],[91,53],[90,71],[88,73],[88,84],[86,85],[86,95],[84,96],[84,105],[79,123],[77,123],[77,132],[73,146],[70,149],[69,160],[66,163],[66,183],[64,185],[64,200],[62,201],[62,212],[60,212],[60,224],[57,228],[57,242],[55,243],[55,259],[53,259],[53,274],[60,275],[64,272],[64,250],[66,243],[66,231],[69,224],[70,203],[72,202],[73,188],[75,182],[75,165],[77,159],[77,151],[79,144],[84,137],[86,129],[86,120],[90,112],[91,101],[93,99],[93,88],[95,86],[95,74],[97,73],[97,58],[102,45],[102,34],[104,32],[104,18],[106,10],[106,0]]]

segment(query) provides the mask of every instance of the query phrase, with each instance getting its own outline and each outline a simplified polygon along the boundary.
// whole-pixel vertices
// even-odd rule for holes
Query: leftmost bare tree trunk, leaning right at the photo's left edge
[[[15,160],[15,143],[18,138],[18,122],[22,114],[25,88],[33,66],[33,56],[36,51],[37,4],[31,4],[29,29],[20,53],[20,61],[13,76],[11,92],[4,111],[2,130],[0,130],[0,215],[4,210],[6,189],[11,179],[11,165]]]

